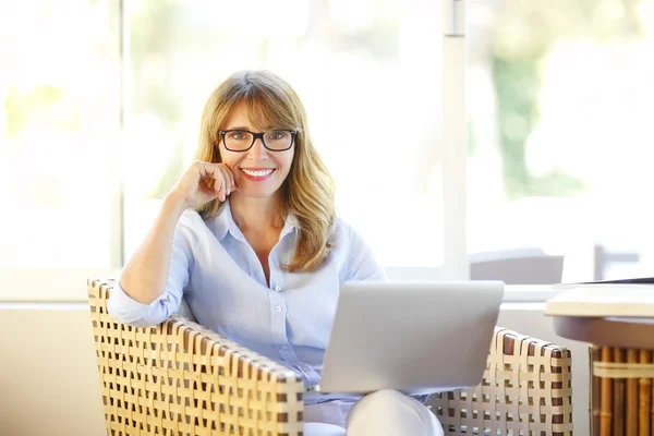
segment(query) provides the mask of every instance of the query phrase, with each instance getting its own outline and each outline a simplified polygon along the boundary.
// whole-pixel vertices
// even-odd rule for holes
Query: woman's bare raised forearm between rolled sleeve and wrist
[[[172,237],[184,209],[183,198],[166,196],[153,227],[121,272],[121,288],[140,303],[149,304],[166,290]]]

